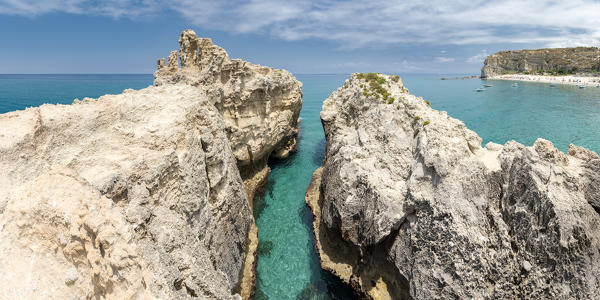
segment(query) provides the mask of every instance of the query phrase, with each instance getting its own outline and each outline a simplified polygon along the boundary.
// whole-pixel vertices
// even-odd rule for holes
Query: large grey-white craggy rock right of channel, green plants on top
[[[322,266],[361,295],[600,298],[596,153],[482,148],[385,75],[353,74],[321,119],[325,162],[306,200]]]

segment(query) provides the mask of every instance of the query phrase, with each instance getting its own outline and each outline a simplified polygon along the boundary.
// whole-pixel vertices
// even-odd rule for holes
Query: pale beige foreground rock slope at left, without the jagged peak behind
[[[232,298],[253,220],[225,127],[185,85],[0,115],[0,294]]]

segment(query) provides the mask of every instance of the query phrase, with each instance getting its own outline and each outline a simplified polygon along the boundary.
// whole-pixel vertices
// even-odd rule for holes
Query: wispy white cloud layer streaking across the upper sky
[[[342,48],[398,44],[529,43],[600,46],[597,0],[0,0],[0,14],[115,18],[181,14],[196,26],[316,38]]]

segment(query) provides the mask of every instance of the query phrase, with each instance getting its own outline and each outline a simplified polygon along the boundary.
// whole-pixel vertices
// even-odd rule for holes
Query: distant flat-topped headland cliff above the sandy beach
[[[600,48],[500,51],[485,59],[481,77],[524,72],[599,73]]]

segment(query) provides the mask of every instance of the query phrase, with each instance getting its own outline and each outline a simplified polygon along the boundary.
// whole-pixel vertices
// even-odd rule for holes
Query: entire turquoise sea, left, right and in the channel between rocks
[[[510,81],[400,75],[412,94],[461,119],[484,143],[517,140],[531,145],[543,137],[563,152],[569,143],[600,152],[600,88],[552,88],[525,82],[512,87]],[[312,216],[304,204],[305,189],[325,151],[321,103],[347,76],[297,75],[304,84],[299,148],[285,161],[270,162],[272,173],[265,194],[254,206],[259,228],[255,299],[351,298],[347,287],[320,269]],[[152,75],[0,75],[0,113],[139,89],[151,85],[152,79]],[[494,86],[475,92],[483,83]]]

